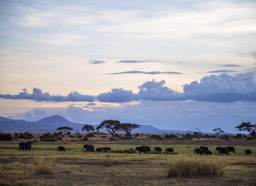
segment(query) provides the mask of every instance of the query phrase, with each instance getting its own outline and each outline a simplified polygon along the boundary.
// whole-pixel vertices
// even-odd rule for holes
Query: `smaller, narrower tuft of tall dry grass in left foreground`
[[[55,159],[46,160],[44,157],[35,156],[33,165],[36,174],[52,174],[55,167]]]

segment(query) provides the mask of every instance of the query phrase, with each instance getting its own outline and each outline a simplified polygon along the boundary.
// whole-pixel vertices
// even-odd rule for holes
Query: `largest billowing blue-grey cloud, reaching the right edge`
[[[208,102],[256,101],[256,72],[210,75],[183,86],[186,99]]]

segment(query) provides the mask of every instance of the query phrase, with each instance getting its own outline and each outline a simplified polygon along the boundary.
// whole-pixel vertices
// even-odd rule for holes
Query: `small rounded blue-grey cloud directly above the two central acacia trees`
[[[100,102],[131,102],[137,100],[138,97],[131,90],[112,89],[110,92],[101,93],[97,96]]]

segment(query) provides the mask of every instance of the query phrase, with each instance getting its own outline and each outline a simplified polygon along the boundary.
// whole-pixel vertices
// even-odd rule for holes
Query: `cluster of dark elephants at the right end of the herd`
[[[235,147],[232,147],[232,146],[227,146],[227,147],[216,147],[215,149],[215,155],[217,156],[217,151],[219,152],[219,155],[223,155],[223,154],[226,154],[226,155],[229,155],[230,152],[233,152],[233,153],[236,153],[235,151]],[[199,147],[199,148],[195,148],[194,150],[194,154],[197,154],[197,155],[212,155],[212,151],[210,151],[208,149],[208,147]],[[245,150],[245,154],[250,154],[252,155],[253,153],[251,152],[251,150]]]

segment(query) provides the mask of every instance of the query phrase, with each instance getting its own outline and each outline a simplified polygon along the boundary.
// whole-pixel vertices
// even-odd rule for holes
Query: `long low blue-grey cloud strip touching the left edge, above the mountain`
[[[26,89],[23,89],[23,91]],[[87,101],[87,102],[93,102],[94,96],[90,95],[82,95],[78,92],[70,92],[67,96],[52,96],[49,93],[43,93],[41,89],[38,89],[36,87],[33,88],[33,93],[29,94],[26,91],[20,92],[18,95],[10,95],[10,94],[0,94],[0,98],[4,99],[30,99],[35,100],[38,102],[41,101],[55,101],[55,102],[62,102],[62,101]]]

